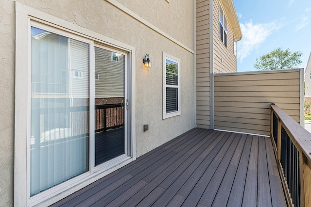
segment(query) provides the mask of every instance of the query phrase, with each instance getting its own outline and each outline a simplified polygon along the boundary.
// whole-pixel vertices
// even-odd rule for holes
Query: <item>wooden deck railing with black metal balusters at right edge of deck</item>
[[[289,206],[311,206],[311,133],[271,104],[270,136]]]

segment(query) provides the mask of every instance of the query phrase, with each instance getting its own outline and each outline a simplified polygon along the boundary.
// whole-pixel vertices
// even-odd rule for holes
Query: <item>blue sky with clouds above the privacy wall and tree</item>
[[[276,48],[311,52],[311,0],[233,0],[243,38],[237,43],[238,72],[254,71],[256,58]]]

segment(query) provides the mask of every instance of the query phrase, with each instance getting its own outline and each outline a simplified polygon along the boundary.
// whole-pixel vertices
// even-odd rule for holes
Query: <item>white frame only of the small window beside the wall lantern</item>
[[[166,84],[166,60],[173,61],[178,64],[178,85],[177,86],[172,86],[172,85],[167,85]],[[173,116],[178,116],[181,114],[181,106],[180,106],[180,59],[177,57],[174,57],[173,55],[170,55],[168,53],[163,52],[163,119],[167,119]],[[166,88],[177,88],[177,111],[173,112],[166,112]]]

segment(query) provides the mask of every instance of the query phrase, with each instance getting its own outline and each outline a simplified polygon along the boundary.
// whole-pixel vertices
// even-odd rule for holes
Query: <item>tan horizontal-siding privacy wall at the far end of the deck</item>
[[[215,74],[215,129],[269,135],[271,103],[300,123],[301,74],[303,69]]]

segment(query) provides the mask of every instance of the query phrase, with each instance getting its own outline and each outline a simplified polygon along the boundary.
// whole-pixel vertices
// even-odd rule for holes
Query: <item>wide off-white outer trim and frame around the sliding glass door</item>
[[[107,37],[103,34],[90,31],[86,28],[80,27],[76,24],[64,21],[58,17],[46,14],[30,6],[22,3],[15,2],[16,8],[16,77],[15,77],[15,96],[17,100],[29,100],[31,88],[31,64],[30,64],[30,25],[31,20],[41,22],[44,25],[52,26],[55,30],[61,31],[72,35],[78,35],[80,39],[87,39],[91,42],[97,42],[109,47],[121,49],[126,51],[128,56],[128,71],[129,80],[129,110],[131,111],[130,129],[128,131],[130,136],[131,149],[129,153],[131,157],[119,158],[118,161],[122,162],[119,165],[110,165],[105,169],[94,169],[94,172],[86,172],[83,175],[77,176],[67,181],[64,188],[54,187],[43,193],[32,196],[29,194],[29,169],[27,162],[29,161],[29,149],[27,135],[30,133],[28,127],[28,120],[30,114],[29,101],[25,104],[23,101],[15,102],[15,150],[14,153],[14,204],[15,206],[35,206],[37,204],[49,206],[62,198],[70,195],[71,193],[82,189],[83,187],[91,184],[92,182],[108,175],[109,173],[121,168],[122,166],[130,163],[136,159],[136,139],[135,139],[135,47],[119,42],[115,39]],[[53,22],[50,23],[50,22]],[[52,32],[52,31],[51,31]],[[58,32],[59,33],[59,32]],[[79,39],[78,38],[78,39]],[[93,48],[92,46],[90,48]],[[90,50],[92,51],[92,49]],[[25,65],[28,69],[25,70]],[[90,76],[92,77],[92,76]],[[90,85],[94,84],[93,77],[90,78]],[[90,105],[91,107],[91,105]],[[90,143],[91,145],[92,143]],[[91,174],[93,173],[93,174]],[[56,190],[55,190],[56,189]],[[50,191],[51,190],[51,191]],[[49,192],[48,192],[49,191]],[[48,193],[46,193],[48,192]]]

